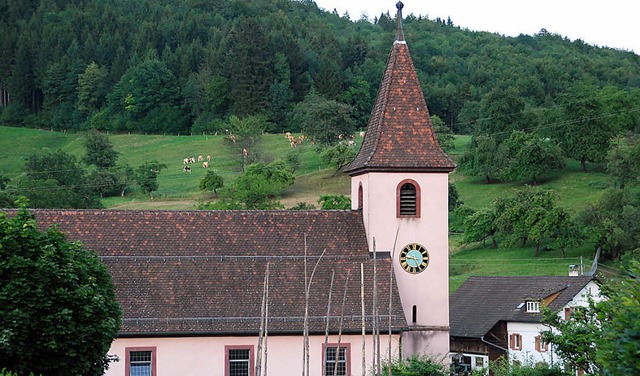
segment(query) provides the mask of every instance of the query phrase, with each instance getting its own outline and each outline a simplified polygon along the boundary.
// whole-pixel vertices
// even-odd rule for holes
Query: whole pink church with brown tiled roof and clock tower
[[[123,321],[107,375],[360,375],[449,354],[448,175],[402,31],[346,211],[34,210],[95,251]]]

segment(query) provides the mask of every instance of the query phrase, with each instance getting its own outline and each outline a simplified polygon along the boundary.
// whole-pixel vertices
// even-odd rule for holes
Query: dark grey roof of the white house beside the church
[[[540,322],[528,313],[526,300],[540,300],[560,310],[592,277],[469,277],[449,297],[452,337],[481,338],[499,321]],[[520,309],[518,309],[520,306]]]

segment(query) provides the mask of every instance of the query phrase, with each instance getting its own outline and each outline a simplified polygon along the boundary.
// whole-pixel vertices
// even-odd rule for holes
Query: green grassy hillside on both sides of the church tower
[[[137,166],[148,160],[158,160],[167,165],[159,177],[160,189],[157,198],[150,201],[141,194],[131,194],[124,198],[108,198],[103,201],[108,208],[121,209],[194,209],[199,200],[207,200],[198,191],[198,183],[205,170],[200,164],[193,165],[191,175],[182,172],[182,160],[188,156],[210,154],[211,167],[221,174],[225,181],[237,176],[238,163],[229,157],[229,149],[221,136],[141,136],[113,135],[110,139],[120,152],[119,163]],[[470,139],[460,136],[456,149],[451,152],[458,158]],[[80,158],[84,152],[82,138],[76,134],[56,133],[24,128],[0,127],[0,174],[17,177],[22,173],[24,160],[43,147],[55,150],[61,148]],[[284,157],[293,149],[282,135],[266,135],[262,145],[263,157],[267,160]],[[282,198],[286,207],[298,202],[317,205],[321,194],[349,194],[349,178],[344,175],[333,177],[333,171],[323,169],[317,153],[310,145],[296,149],[301,152],[301,167],[296,172],[296,183],[288,188]],[[481,208],[490,203],[505,190],[517,189],[520,184],[484,184],[481,178],[469,177],[454,172],[451,180],[456,183],[461,199],[469,206]],[[587,203],[594,202],[607,185],[607,176],[598,171],[581,172],[577,163],[570,163],[564,171],[557,173],[543,187],[556,190],[560,202],[577,211]],[[588,247],[571,250],[567,259],[561,259],[559,252],[542,252],[533,257],[533,248],[492,249],[481,245],[462,245],[460,236],[451,236],[451,286],[457,288],[469,275],[566,275],[569,264],[579,264],[580,257],[593,257]],[[585,261],[588,262],[588,261]]]

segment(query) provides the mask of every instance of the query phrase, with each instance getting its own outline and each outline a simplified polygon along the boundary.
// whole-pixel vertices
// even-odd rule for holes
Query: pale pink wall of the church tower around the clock
[[[420,186],[420,218],[397,218],[396,188],[405,179]],[[427,352],[434,357],[449,351],[449,230],[448,174],[368,173],[352,177],[352,208],[357,209],[358,189],[363,188],[363,219],[369,249],[393,252],[395,275],[407,322],[415,328],[432,328],[428,335],[403,336],[403,356]],[[398,230],[399,229],[399,230]],[[397,243],[394,241],[398,231]],[[409,243],[429,251],[425,271],[411,275],[400,267],[398,254]],[[417,308],[413,322],[413,306]]]

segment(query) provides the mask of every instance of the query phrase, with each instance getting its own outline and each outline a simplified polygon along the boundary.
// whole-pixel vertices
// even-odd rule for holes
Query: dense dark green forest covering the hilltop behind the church
[[[454,21],[404,19],[430,111],[454,132],[548,129],[563,95],[587,89],[637,126],[640,56]],[[2,0],[0,123],[185,134],[260,115],[300,131],[299,104],[323,98],[363,129],[394,29],[394,15],[351,20],[311,0]]]

